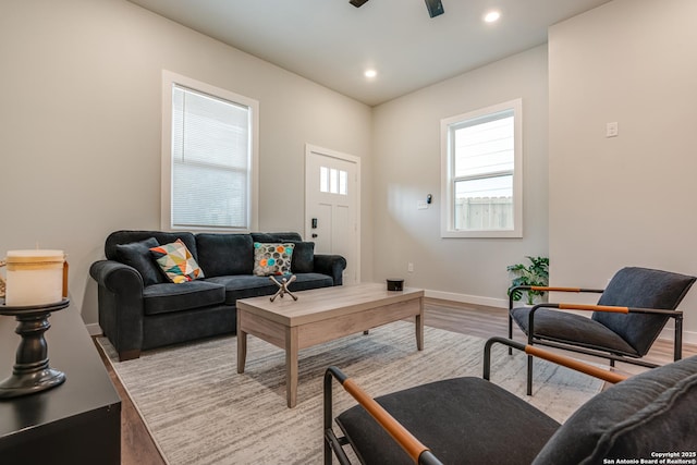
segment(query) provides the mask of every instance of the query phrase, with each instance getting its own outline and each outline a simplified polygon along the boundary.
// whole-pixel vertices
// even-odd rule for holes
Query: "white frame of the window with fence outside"
[[[456,230],[453,131],[473,120],[513,111],[513,229]],[[440,121],[441,137],[441,237],[523,237],[523,99],[517,98]]]

